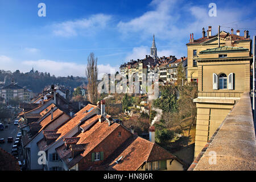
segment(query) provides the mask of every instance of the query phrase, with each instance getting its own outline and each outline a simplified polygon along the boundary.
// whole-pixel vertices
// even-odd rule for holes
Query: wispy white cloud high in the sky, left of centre
[[[77,36],[78,34],[93,34],[98,29],[106,27],[112,16],[105,14],[92,15],[89,18],[70,20],[53,24],[53,33],[58,36]]]

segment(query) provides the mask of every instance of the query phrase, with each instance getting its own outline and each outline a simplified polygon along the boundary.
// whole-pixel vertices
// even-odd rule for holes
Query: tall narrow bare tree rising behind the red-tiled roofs
[[[87,58],[87,68],[86,68],[86,77],[88,80],[87,90],[88,90],[88,96],[89,101],[92,102],[92,104],[96,104],[97,102],[97,96],[98,96],[98,90],[97,90],[97,79],[98,79],[98,68],[97,68],[97,57],[94,57],[94,53],[91,52],[90,55]]]

